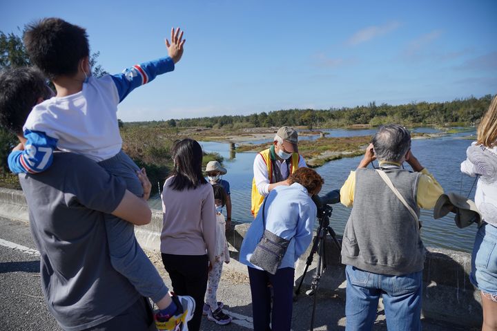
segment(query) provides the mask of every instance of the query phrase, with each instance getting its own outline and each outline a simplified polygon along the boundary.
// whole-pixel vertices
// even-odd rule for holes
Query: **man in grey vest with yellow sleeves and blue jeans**
[[[379,168],[366,169],[375,159]],[[413,172],[402,169],[403,162]],[[373,328],[380,296],[389,330],[421,330],[425,246],[418,218],[420,208],[433,208],[442,193],[411,152],[409,131],[397,124],[378,129],[358,169],[340,189],[342,204],[353,205],[342,242],[347,330]]]

